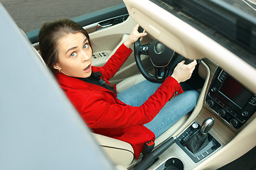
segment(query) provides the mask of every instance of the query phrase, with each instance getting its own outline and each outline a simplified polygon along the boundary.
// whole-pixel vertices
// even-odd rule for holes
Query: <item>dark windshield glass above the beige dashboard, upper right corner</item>
[[[256,0],[151,1],[256,68]]]

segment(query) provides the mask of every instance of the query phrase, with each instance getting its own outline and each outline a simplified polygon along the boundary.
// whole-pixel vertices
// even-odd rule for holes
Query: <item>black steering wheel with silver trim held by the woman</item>
[[[139,27],[139,32],[142,32],[142,28]],[[151,63],[154,66],[155,74],[151,75],[146,72],[142,65],[141,55],[149,55]],[[185,64],[192,62],[181,55],[178,55],[174,50],[164,45],[158,40],[154,40],[146,45],[141,45],[140,40],[134,43],[134,57],[142,75],[149,81],[155,83],[162,83],[164,80],[172,74],[172,70],[176,67],[178,62],[185,60]]]

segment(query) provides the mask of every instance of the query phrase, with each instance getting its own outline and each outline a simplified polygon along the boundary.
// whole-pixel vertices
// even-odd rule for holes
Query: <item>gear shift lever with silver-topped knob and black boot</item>
[[[186,146],[193,154],[203,149],[208,145],[208,132],[213,128],[214,119],[207,118],[203,121],[201,129],[192,130],[186,137],[181,140],[181,144]]]

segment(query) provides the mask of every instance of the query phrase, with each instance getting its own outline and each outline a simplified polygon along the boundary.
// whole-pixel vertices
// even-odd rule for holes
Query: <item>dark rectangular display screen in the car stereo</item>
[[[250,91],[229,76],[226,77],[219,91],[240,108],[243,108],[252,96]]]

